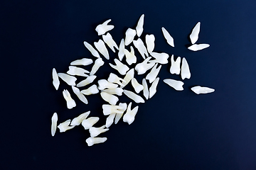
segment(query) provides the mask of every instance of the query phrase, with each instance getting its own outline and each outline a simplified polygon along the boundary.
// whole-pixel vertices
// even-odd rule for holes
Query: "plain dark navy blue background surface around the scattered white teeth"
[[[252,0],[1,1],[0,169],[256,169],[255,5]],[[51,137],[54,112],[59,123],[85,111],[100,117],[95,126],[105,123],[99,94],[88,96],[89,105],[76,99],[77,107],[65,107],[62,91],[71,89],[60,81],[55,91],[53,67],[67,72],[73,60],[95,60],[82,43],[99,40],[95,27],[111,18],[110,33],[119,45],[142,13],[142,38],[153,33],[156,52],[188,60],[191,79],[184,80],[184,91],[164,84],[166,78],[181,79],[166,64],[156,95],[139,104],[132,125],[120,121],[100,135],[108,138],[104,144],[87,147],[89,132],[82,127]],[[188,35],[198,21],[198,43],[210,47],[192,52]],[[165,42],[162,26],[176,47]],[[117,73],[107,64],[117,54],[109,52],[97,79]],[[215,92],[198,96],[190,90],[196,85]]]

